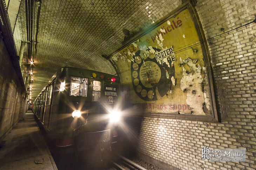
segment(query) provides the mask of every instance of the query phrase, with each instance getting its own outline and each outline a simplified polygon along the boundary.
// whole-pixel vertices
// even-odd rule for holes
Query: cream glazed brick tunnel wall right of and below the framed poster
[[[208,39],[220,122],[152,116],[142,121],[127,119],[134,131],[141,124],[140,158],[165,170],[256,169],[256,23],[250,23],[255,6],[253,0],[198,0],[196,10]],[[221,28],[228,33],[217,36]],[[246,162],[203,160],[204,146],[246,148]]]

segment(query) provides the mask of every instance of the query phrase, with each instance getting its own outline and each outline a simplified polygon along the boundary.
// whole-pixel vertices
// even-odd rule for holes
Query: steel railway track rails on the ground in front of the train
[[[114,161],[111,161],[113,164],[112,169],[114,170],[147,170],[140,165],[136,164],[135,162],[127,159],[126,157],[123,157],[121,155],[117,155],[121,159],[121,164],[124,166],[121,166],[120,163],[116,163]]]

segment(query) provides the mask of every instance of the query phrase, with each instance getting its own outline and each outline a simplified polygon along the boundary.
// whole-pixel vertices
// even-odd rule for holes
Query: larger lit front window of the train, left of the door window
[[[88,79],[81,77],[71,77],[70,96],[87,97]]]

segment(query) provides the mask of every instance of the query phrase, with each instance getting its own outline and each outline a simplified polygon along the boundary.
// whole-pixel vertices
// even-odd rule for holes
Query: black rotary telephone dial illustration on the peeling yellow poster
[[[153,49],[156,52],[161,51],[155,47]],[[171,60],[168,60],[169,67],[165,62],[159,62],[155,54],[149,53],[149,56],[144,56],[141,52],[138,50],[131,61],[133,88],[141,99],[156,101],[156,88],[161,97],[171,89],[171,77],[175,75],[175,69],[171,66]]]

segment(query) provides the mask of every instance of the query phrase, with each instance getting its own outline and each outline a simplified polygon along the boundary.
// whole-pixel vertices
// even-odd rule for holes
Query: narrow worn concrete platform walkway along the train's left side
[[[1,142],[0,169],[58,170],[32,111]]]

